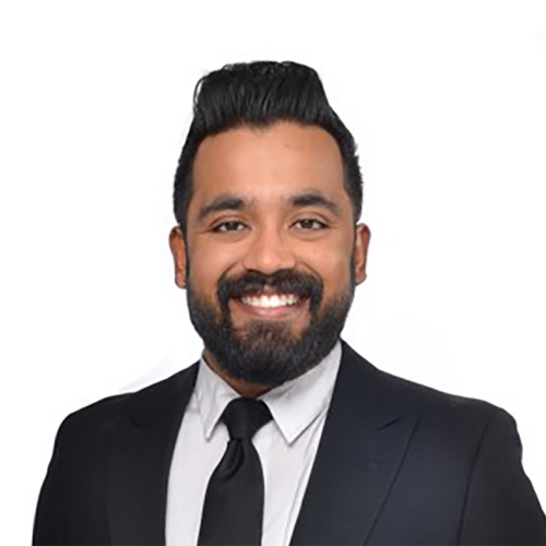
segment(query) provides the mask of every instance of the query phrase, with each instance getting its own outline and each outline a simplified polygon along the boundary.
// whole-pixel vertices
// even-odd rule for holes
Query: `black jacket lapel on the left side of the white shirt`
[[[114,439],[108,495],[111,542],[164,545],[170,461],[198,363],[134,395]]]

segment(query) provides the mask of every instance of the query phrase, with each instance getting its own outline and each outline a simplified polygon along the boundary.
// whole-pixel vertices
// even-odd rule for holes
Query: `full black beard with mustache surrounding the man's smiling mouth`
[[[292,333],[289,321],[257,319],[250,320],[240,333],[234,329],[229,300],[265,285],[308,298],[310,321],[299,335]],[[293,270],[274,275],[248,272],[236,280],[219,280],[218,319],[215,307],[193,290],[188,274],[188,309],[193,328],[228,378],[273,389],[310,370],[332,351],[345,325],[355,286],[352,259],[349,286],[321,309],[320,280]]]

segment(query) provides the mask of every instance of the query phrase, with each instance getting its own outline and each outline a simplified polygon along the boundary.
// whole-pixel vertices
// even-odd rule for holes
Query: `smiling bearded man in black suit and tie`
[[[70,415],[34,544],[546,544],[513,418],[340,335],[366,280],[354,140],[317,73],[198,84],[170,233],[201,359]]]

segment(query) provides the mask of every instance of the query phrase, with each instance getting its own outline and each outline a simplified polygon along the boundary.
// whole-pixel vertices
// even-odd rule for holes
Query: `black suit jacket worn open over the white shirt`
[[[197,370],[62,423],[34,545],[165,544],[170,461]],[[521,453],[503,410],[390,376],[342,341],[292,544],[546,545]]]

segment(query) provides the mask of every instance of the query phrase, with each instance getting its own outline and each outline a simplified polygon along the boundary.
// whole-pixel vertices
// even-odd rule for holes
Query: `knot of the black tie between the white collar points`
[[[232,440],[251,440],[271,418],[264,402],[244,397],[232,400],[222,414]]]

